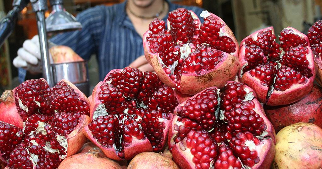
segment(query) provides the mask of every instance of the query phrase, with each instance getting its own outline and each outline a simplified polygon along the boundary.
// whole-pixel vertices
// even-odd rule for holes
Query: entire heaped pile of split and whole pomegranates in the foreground
[[[221,18],[202,16],[179,8],[171,29],[150,23],[143,46],[156,73],[111,70],[88,98],[67,80],[6,90],[2,166],[321,168],[322,21],[238,43]]]

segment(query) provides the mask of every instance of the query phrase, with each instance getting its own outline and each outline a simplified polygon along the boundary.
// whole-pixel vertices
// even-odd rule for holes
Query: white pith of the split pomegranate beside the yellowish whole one
[[[243,84],[243,83],[241,83],[241,84]],[[206,89],[205,89],[206,90]],[[254,99],[257,99],[256,97],[255,97],[255,93],[254,93],[254,91],[252,91],[252,90],[250,90],[250,88],[248,88],[248,87],[245,87],[244,89],[243,89],[245,92],[246,92],[246,95],[245,95],[245,97],[242,99],[242,103],[244,102],[244,101],[250,101],[250,100],[254,100]],[[218,100],[218,105],[217,105],[217,109],[216,109],[216,111],[215,111],[215,116],[218,118],[218,116],[219,116],[219,118],[220,118],[220,120],[222,120],[223,122],[225,122],[225,123],[227,123],[226,121],[224,121],[223,119],[224,119],[224,111],[223,110],[221,110],[220,109],[220,104],[221,104],[221,97],[220,97],[220,92],[219,92],[219,89],[217,89],[217,94],[218,94],[218,98],[217,98],[217,100]],[[197,96],[197,95],[195,95],[195,96]],[[194,97],[195,97],[194,96]],[[259,102],[258,102],[259,103]],[[260,108],[258,107],[258,106],[260,106],[260,104],[256,104],[255,103],[255,107],[253,108],[253,110],[256,112],[256,113],[258,113],[257,111],[260,111]],[[218,115],[218,113],[220,113],[219,115]],[[258,113],[259,114],[259,113]],[[262,117],[262,115],[260,115],[260,117]],[[187,117],[188,118],[188,117]],[[264,117],[263,117],[264,118]],[[194,120],[192,120],[192,121],[194,121]],[[266,123],[266,121],[264,120],[264,123]],[[184,126],[184,123],[183,122],[180,122],[180,121],[176,121],[175,122],[175,125],[178,125],[178,126]],[[214,128],[212,128],[211,130],[208,130],[208,132],[212,132],[213,131],[213,129]],[[243,133],[243,132],[242,132]],[[177,136],[177,134],[174,134],[173,136],[172,136],[172,138],[174,138],[175,136]],[[244,144],[245,144],[245,146],[247,146],[248,148],[249,148],[249,150],[250,151],[256,151],[257,153],[258,153],[258,157],[260,157],[260,158],[263,158],[263,156],[261,156],[260,155],[260,151],[262,150],[261,149],[261,147],[263,146],[263,145],[265,145],[265,144],[269,144],[268,142],[266,142],[266,141],[264,141],[264,140],[266,140],[266,139],[271,139],[271,136],[270,136],[270,134],[269,134],[269,132],[267,131],[267,130],[264,130],[263,132],[262,132],[262,134],[260,135],[260,136],[256,136],[255,134],[252,134],[252,136],[255,138],[258,138],[259,139],[259,145],[255,145],[255,143],[254,143],[254,141],[253,140],[248,140],[247,138],[246,138],[246,141],[244,142]],[[233,136],[233,137],[236,137],[236,136]],[[186,137],[185,137],[186,138]],[[178,142],[178,143],[176,143],[176,144],[178,144],[178,147],[179,147],[179,149],[181,150],[181,151],[188,151],[188,152],[183,152],[182,154],[184,155],[184,154],[189,154],[190,153],[190,148],[187,148],[187,145],[186,145],[186,141],[184,141],[185,139],[182,139],[180,142]],[[227,140],[228,141],[228,143],[231,141],[230,139],[225,139],[225,140]],[[175,144],[175,145],[176,145]],[[221,145],[221,143],[217,143],[218,144],[218,147]],[[232,147],[230,147],[229,146],[229,144],[225,144],[226,146],[228,146],[229,148],[231,148],[232,149]],[[234,150],[232,149],[232,151],[234,152]],[[213,166],[213,164],[216,162],[216,160],[219,158],[219,151],[217,152],[218,153],[218,157],[216,158],[216,159],[214,159],[213,161],[211,161],[211,166],[210,166],[210,168],[209,169],[213,169],[214,168],[214,166]],[[233,155],[234,155],[234,153],[233,153]],[[242,162],[242,160],[237,156],[237,155],[234,155],[235,157],[236,157],[236,159],[237,160],[239,160],[240,161],[240,163],[242,164],[242,168],[243,169],[251,169],[252,167],[254,167],[254,166],[256,166],[256,164],[260,164],[260,162],[261,162],[261,160],[263,160],[263,159],[260,159],[260,162],[259,163],[256,163],[254,166],[252,166],[252,167],[250,167],[250,166],[248,166],[248,165],[246,165],[246,164],[243,164],[243,162]],[[193,157],[194,157],[194,155],[190,155],[189,156],[189,159],[190,159],[190,161],[192,162],[192,159],[193,159]],[[230,168],[229,169],[232,169],[232,167],[230,166]]]

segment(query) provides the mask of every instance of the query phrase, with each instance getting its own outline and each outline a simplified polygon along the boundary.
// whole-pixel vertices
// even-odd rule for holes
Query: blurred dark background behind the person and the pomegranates
[[[124,0],[64,0],[66,10],[77,15],[79,12],[95,5],[112,5]],[[170,0],[182,5],[195,5],[212,12],[223,19],[232,29],[237,40],[256,30],[273,26],[279,33],[287,26],[306,33],[308,28],[321,19],[322,0]],[[51,7],[48,2],[49,10]],[[0,18],[12,9],[12,0],[0,0]],[[37,34],[37,25],[32,6],[27,5],[20,13],[13,33],[0,48],[0,93],[13,89],[20,84],[17,68],[12,65],[17,50],[26,39]],[[98,83],[98,66],[95,57],[89,61],[91,86]]]

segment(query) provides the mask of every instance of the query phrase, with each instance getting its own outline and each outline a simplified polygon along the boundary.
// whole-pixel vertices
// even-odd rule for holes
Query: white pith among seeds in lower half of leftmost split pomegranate
[[[24,126],[23,131],[25,130],[25,126],[26,126],[25,123],[26,122],[23,122],[23,126]],[[27,135],[27,136],[37,135],[37,134],[41,134],[43,136],[46,136],[47,135],[47,132],[44,129],[44,127],[46,125],[49,125],[49,124],[48,123],[45,123],[45,122],[42,122],[42,121],[38,121],[38,127],[36,128],[36,130],[31,131],[30,134]],[[58,135],[57,133],[55,133],[55,134],[56,134],[56,140],[58,141],[59,145],[65,148],[65,151],[64,151],[65,154],[62,155],[59,151],[57,151],[57,149],[53,149],[51,143],[48,142],[48,141],[46,141],[46,145],[44,147],[42,147],[42,148],[45,151],[49,152],[49,153],[56,153],[57,152],[59,154],[60,159],[65,159],[66,158],[66,155],[67,155],[67,147],[68,147],[67,138],[66,138],[66,136],[61,136],[61,135]],[[34,141],[34,140],[31,140],[30,143],[32,143],[35,146],[38,146],[37,142]],[[38,159],[38,155],[31,154],[29,151],[28,151],[28,153],[30,154],[30,156],[33,159],[32,160],[33,165],[36,166],[37,159]]]

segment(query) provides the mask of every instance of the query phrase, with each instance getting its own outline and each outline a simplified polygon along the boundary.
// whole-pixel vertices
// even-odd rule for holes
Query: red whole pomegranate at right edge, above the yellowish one
[[[313,123],[322,127],[322,88],[314,84],[312,91],[295,103],[282,106],[264,105],[276,133],[294,123]]]

